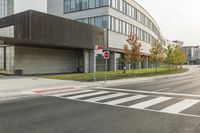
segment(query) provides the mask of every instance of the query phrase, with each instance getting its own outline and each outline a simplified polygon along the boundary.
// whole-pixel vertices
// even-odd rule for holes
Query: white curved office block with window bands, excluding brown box
[[[148,67],[149,49],[155,39],[165,45],[156,21],[134,0],[48,0],[47,5],[49,14],[107,29],[108,48],[118,60],[113,70],[123,66],[122,49],[130,33],[139,37],[146,57],[139,68]]]

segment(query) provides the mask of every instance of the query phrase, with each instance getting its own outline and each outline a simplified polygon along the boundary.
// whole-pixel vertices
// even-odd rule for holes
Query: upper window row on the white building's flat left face
[[[108,0],[64,0],[64,13],[108,6]]]

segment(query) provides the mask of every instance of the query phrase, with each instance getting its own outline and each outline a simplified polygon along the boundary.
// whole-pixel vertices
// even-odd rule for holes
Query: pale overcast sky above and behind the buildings
[[[166,39],[200,44],[200,0],[136,0],[157,21]],[[46,0],[15,0],[15,12],[46,12]]]

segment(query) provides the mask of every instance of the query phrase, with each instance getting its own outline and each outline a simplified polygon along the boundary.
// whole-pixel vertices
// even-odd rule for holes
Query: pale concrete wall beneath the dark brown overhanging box
[[[14,70],[23,74],[66,73],[76,71],[74,50],[15,47]]]

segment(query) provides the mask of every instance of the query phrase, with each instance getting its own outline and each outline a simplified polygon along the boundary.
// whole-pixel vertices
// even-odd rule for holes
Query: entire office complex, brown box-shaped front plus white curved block
[[[3,32],[7,29],[10,32]],[[143,61],[137,68],[151,67],[151,44],[157,39],[165,46],[165,39],[153,17],[135,1],[48,0],[48,14],[26,11],[0,19],[0,66],[7,74],[104,71],[105,59],[94,56],[99,45],[110,51],[108,69],[123,69],[130,33],[142,44]]]

